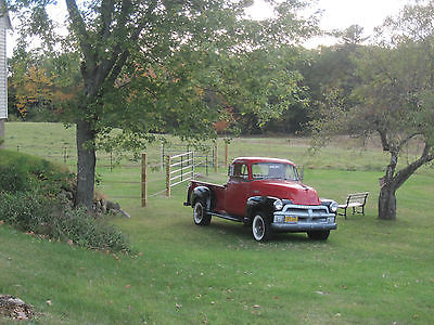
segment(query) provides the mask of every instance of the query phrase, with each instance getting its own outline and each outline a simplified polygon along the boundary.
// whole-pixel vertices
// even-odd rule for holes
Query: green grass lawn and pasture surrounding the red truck
[[[49,156],[58,143],[74,145],[73,131],[7,123],[7,146]],[[36,324],[433,324],[434,170],[424,168],[398,191],[396,222],[380,221],[378,179],[387,155],[341,139],[312,156],[307,142],[234,139],[230,156],[289,158],[305,167],[307,184],[337,202],[369,191],[366,216],[339,218],[326,243],[279,234],[257,244],[248,227],[220,219],[195,226],[191,208],[182,206],[187,185],[180,185],[171,198],[151,197],[146,208],[136,198],[118,199],[131,218],[112,222],[129,234],[130,256],[0,225],[0,295],[35,306]],[[158,162],[158,150],[149,147],[151,162]],[[67,165],[74,167],[74,157]],[[102,166],[98,173],[108,198],[140,196],[138,185],[110,182],[138,180],[139,168]],[[207,180],[224,182],[226,168]],[[163,188],[164,176],[152,171],[149,192]]]

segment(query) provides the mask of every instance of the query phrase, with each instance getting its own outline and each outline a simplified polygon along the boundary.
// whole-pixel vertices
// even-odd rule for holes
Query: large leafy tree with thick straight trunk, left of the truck
[[[59,11],[47,11],[55,1],[9,2],[20,12],[23,35],[39,35],[50,52],[80,56],[80,91],[71,107],[77,129],[76,203],[87,207],[93,198],[95,143],[113,127],[131,145],[150,131],[209,134],[218,112],[203,101],[205,90],[228,100],[246,95],[226,92],[225,77],[238,57],[293,44],[315,29],[315,20],[296,15],[302,0],[279,2],[266,22],[243,18],[251,0],[65,0],[69,32],[59,38],[49,14]],[[245,108],[260,114],[250,95]]]

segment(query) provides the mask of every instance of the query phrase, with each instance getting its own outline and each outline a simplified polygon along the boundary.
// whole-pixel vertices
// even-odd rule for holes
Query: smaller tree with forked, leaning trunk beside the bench
[[[398,17],[388,18],[378,29],[378,43],[366,47],[356,60],[356,104],[344,109],[331,101],[320,127],[381,140],[390,159],[381,179],[380,219],[396,219],[396,191],[434,159],[433,21],[434,1],[406,6]],[[409,146],[414,158],[401,159]]]

